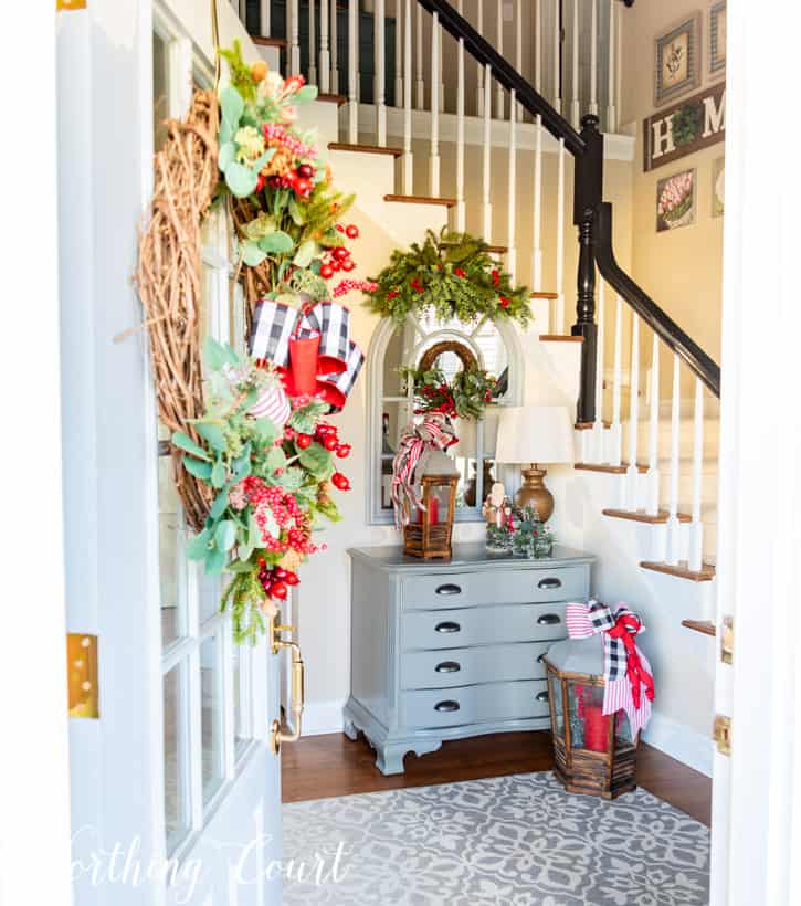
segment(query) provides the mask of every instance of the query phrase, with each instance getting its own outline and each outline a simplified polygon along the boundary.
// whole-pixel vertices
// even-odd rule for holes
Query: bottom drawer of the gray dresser
[[[410,729],[524,720],[549,714],[545,680],[401,693],[401,724]]]

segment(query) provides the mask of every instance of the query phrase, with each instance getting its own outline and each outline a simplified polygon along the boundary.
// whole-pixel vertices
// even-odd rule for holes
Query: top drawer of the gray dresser
[[[588,567],[404,576],[404,610],[583,600]]]

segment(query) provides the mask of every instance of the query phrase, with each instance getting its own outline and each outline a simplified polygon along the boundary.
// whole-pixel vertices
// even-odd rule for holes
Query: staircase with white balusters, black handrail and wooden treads
[[[631,148],[615,135],[623,3],[274,0],[239,11],[271,65],[303,66],[319,84],[337,178],[370,187],[359,208],[393,243],[466,229],[533,287],[530,341],[557,356],[560,344],[580,347],[576,471],[605,482],[610,531],[642,526],[642,570],[713,580],[719,368],[618,265],[603,203],[604,154]],[[578,302],[566,287],[575,268]]]

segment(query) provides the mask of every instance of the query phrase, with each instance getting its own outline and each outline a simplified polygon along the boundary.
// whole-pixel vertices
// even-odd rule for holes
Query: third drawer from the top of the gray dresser
[[[401,660],[401,688],[442,689],[475,683],[512,680],[544,680],[538,657],[554,643],[478,645],[447,651],[407,651]]]

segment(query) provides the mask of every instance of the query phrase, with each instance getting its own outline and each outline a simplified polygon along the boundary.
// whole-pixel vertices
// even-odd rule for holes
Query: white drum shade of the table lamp
[[[521,405],[500,410],[499,463],[572,463],[573,425],[563,405]]]

